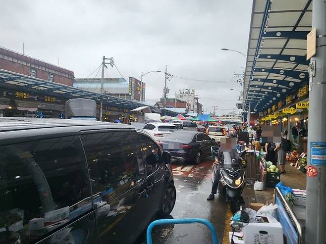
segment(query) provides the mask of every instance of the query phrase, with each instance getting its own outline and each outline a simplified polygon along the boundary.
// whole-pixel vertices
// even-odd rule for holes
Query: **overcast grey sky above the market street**
[[[173,78],[169,98],[195,89],[206,111],[235,109],[238,92],[233,72],[247,53],[252,0],[10,0],[1,3],[0,46],[90,75],[113,57],[123,77],[164,70]],[[109,68],[109,77],[119,77]],[[100,76],[100,73],[98,77]],[[95,77],[95,74],[90,78]],[[233,81],[234,82],[230,82]],[[146,98],[162,96],[163,73],[144,76]]]

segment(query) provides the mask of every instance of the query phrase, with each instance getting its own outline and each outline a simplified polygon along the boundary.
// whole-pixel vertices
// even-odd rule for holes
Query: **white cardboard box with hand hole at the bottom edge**
[[[249,223],[242,230],[245,244],[283,244],[280,223]]]

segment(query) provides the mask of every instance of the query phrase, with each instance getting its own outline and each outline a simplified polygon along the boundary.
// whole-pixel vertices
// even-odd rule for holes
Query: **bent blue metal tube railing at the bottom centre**
[[[195,224],[195,223],[206,225],[210,229],[210,231],[211,231],[213,244],[218,244],[217,234],[216,234],[216,230],[215,230],[213,224],[210,221],[206,220],[206,219],[200,219],[200,218],[191,218],[191,219],[190,218],[189,219],[159,219],[159,220],[155,220],[147,228],[147,233],[146,233],[147,244],[152,244],[152,230],[157,225]]]

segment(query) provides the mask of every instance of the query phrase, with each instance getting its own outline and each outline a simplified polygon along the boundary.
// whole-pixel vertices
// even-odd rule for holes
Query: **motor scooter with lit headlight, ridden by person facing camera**
[[[247,161],[242,158],[245,151],[238,157],[231,158],[229,151],[224,151],[224,159],[220,158],[217,153],[217,161],[213,164],[213,182],[216,174],[219,174],[219,182],[217,191],[221,195],[226,196],[226,201],[230,203],[232,213],[240,209],[243,198],[241,193],[244,189],[244,168],[247,166]]]

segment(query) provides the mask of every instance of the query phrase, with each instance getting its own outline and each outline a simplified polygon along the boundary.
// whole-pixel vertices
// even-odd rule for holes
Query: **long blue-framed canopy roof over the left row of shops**
[[[118,106],[127,108],[129,110],[143,107],[144,104],[123,99],[115,98],[106,94],[99,94],[88,92],[82,89],[66,86],[63,84],[38,79],[35,77],[18,74],[15,72],[0,69],[0,87],[22,89],[23,91],[30,91],[35,93],[43,93],[45,95],[52,95],[54,97],[63,97],[66,99],[70,98],[88,98],[100,101],[103,99],[103,103],[110,106]],[[156,110],[155,107],[150,106],[151,110]],[[172,113],[172,111],[169,111]],[[177,113],[174,113],[176,115]]]

